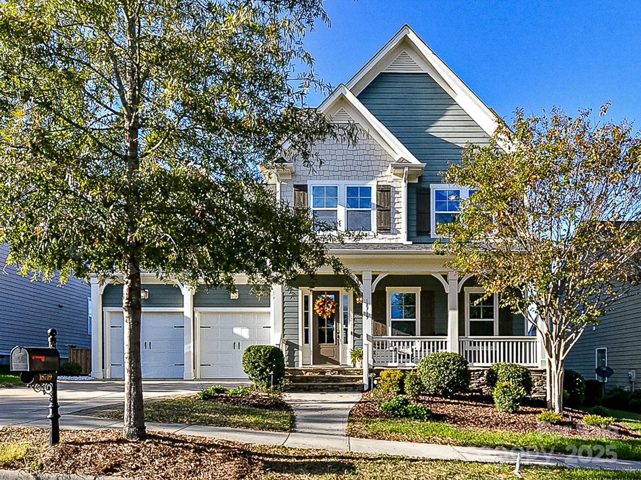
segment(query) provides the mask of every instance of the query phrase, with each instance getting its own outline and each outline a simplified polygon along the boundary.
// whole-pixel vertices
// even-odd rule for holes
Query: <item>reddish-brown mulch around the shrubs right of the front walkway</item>
[[[544,409],[538,406],[521,406],[518,413],[497,412],[492,397],[469,394],[454,398],[422,395],[416,403],[423,404],[434,414],[434,421],[444,422],[458,428],[485,429],[490,431],[509,431],[513,433],[558,433],[563,436],[581,438],[620,438],[638,439],[641,436],[626,424],[614,423],[608,429],[584,424],[581,420],[586,412],[568,410],[563,415],[563,422],[558,425],[539,422],[537,416]],[[354,405],[350,417],[358,418],[392,418],[370,400],[370,393],[365,392],[360,402]],[[570,422],[570,415],[572,422]]]

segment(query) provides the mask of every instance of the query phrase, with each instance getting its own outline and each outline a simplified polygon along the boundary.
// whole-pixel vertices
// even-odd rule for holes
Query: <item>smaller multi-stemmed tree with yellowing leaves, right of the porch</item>
[[[608,106],[601,109],[605,115]],[[641,141],[631,125],[593,125],[560,109],[501,125],[470,145],[445,181],[469,186],[438,249],[501,305],[533,319],[547,358],[547,400],[563,408],[563,364],[588,324],[639,273]]]

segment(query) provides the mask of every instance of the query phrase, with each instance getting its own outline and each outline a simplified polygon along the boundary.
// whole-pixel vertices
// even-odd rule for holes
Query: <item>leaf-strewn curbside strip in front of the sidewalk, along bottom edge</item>
[[[87,476],[190,480],[494,480],[515,479],[514,465],[417,460],[397,456],[244,445],[215,438],[151,432],[144,441],[120,431],[61,432],[47,448],[46,429],[0,429],[12,447],[0,468]],[[2,458],[2,457],[0,457]],[[10,460],[7,460],[10,458]],[[522,467],[526,480],[637,480],[641,472]]]

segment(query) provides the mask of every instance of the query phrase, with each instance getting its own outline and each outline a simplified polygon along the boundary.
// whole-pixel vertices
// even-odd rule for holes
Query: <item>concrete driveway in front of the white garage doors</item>
[[[210,385],[237,387],[247,385],[246,380],[144,380],[145,399],[169,395],[190,394]],[[85,408],[124,401],[122,380],[58,381],[60,414],[65,415]],[[49,413],[49,396],[28,387],[0,388],[0,427],[40,423]]]

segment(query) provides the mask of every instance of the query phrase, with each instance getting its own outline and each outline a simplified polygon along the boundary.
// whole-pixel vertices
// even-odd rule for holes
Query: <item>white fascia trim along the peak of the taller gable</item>
[[[445,90],[451,90],[454,92],[454,101],[458,103],[461,108],[470,116],[472,120],[479,124],[479,126],[485,131],[488,135],[494,134],[496,127],[498,126],[497,115],[490,109],[483,100],[479,99],[476,93],[472,92],[472,89],[469,88],[461,79],[458,77],[447,64],[441,60],[435,52],[428,47],[428,45],[415,33],[415,31],[410,28],[408,24],[405,24],[397,33],[381,48],[363,67],[356,72],[356,74],[347,82],[347,88],[350,90],[356,86],[359,81],[363,79],[370,70],[376,68],[376,65],[383,60],[383,58],[390,52],[396,45],[401,43],[403,40],[407,40],[410,44],[416,49],[417,52],[421,54],[424,61],[427,65],[435,72],[438,76],[442,77],[446,85],[441,85]],[[439,78],[435,78],[437,83],[440,83]],[[363,90],[367,84],[359,86],[360,90]],[[358,90],[355,90],[356,94],[360,93]]]

